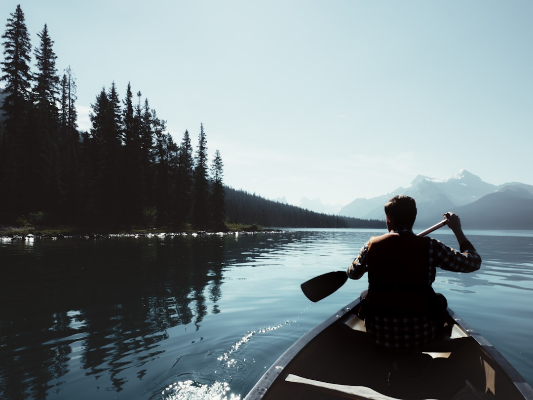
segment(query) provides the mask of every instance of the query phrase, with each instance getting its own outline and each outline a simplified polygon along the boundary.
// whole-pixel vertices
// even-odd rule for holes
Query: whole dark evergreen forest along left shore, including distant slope
[[[227,223],[276,227],[382,227],[383,221],[325,215],[229,188],[219,150],[212,159],[200,124],[176,143],[148,98],[114,82],[77,125],[76,76],[58,73],[46,24],[32,49],[20,5],[2,34],[0,224],[225,230]],[[32,69],[34,67],[34,69]],[[0,90],[1,91],[1,90]],[[122,97],[122,98],[121,98]]]

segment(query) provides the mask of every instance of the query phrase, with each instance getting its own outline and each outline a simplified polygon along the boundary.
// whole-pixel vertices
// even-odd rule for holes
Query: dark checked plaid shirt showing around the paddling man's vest
[[[410,233],[412,230],[397,230],[396,233]],[[353,260],[353,269],[348,276],[359,279],[368,270],[367,252],[370,242],[361,248],[358,257]],[[461,243],[460,251],[448,247],[437,239],[430,239],[428,256],[429,285],[435,281],[437,268],[456,272],[472,272],[481,266],[481,257],[468,241]],[[427,315],[400,317],[394,315],[370,315],[365,319],[370,337],[379,346],[394,350],[417,348],[435,337],[439,321]]]

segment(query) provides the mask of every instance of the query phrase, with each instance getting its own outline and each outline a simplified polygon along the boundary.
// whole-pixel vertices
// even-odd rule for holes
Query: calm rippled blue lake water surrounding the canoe
[[[318,303],[300,284],[381,233],[0,241],[0,398],[242,398],[366,277]],[[481,270],[434,287],[533,385],[533,231],[467,236]]]

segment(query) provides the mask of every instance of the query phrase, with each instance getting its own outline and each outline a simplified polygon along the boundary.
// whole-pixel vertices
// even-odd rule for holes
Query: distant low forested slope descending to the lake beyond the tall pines
[[[294,228],[383,228],[382,220],[364,220],[322,214],[294,205],[265,199],[244,190],[224,187],[228,219],[265,227]]]

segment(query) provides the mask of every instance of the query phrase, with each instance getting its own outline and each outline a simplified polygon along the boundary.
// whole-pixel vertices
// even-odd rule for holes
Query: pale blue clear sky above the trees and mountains
[[[17,4],[75,74],[80,129],[130,82],[176,143],[196,151],[203,124],[235,189],[346,205],[462,169],[533,185],[530,0],[3,0],[2,33]]]

